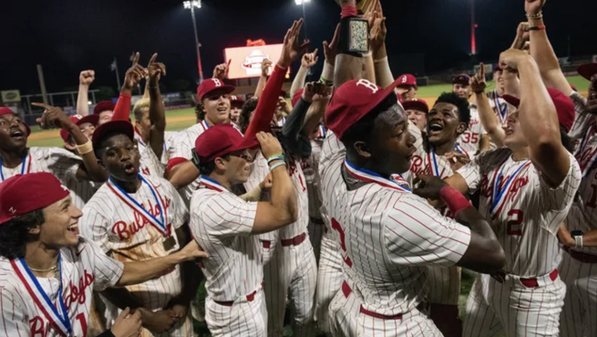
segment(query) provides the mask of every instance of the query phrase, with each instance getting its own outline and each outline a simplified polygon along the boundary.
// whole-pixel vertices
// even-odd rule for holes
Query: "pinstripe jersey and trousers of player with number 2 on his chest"
[[[504,148],[485,152],[458,170],[472,191],[481,189],[479,212],[491,219],[506,252],[503,270],[507,277],[540,277],[558,267],[556,232],[580,183],[580,167],[569,155],[570,170],[558,188],[547,185],[533,164],[519,171],[497,217],[489,210],[496,176],[503,167],[506,180],[521,163],[513,161],[509,149]],[[469,295],[464,336],[491,336],[500,329],[496,320],[507,336],[557,336],[564,293],[565,285],[559,278],[546,286],[526,288],[481,275]]]

